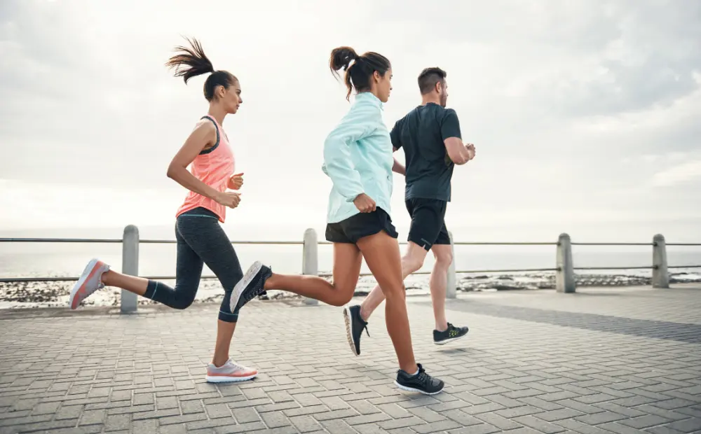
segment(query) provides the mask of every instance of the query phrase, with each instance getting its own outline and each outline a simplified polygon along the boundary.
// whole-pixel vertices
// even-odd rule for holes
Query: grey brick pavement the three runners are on
[[[383,312],[352,355],[339,308],[251,302],[233,357],[261,375],[204,381],[217,306],[0,311],[0,434],[701,432],[701,288],[470,293],[435,346],[409,298],[416,357],[447,383],[398,391]]]

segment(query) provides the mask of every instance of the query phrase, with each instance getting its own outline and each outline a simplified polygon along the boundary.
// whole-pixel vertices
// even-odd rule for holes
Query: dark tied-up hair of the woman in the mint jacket
[[[351,65],[353,60],[355,60],[355,63]],[[329,59],[329,68],[337,77],[339,76],[339,69],[343,68],[343,71],[346,71],[344,76],[344,82],[346,87],[348,87],[346,99],[350,99],[351,90],[353,89],[356,92],[370,90],[370,77],[372,77],[372,74],[377,71],[381,76],[384,76],[391,67],[392,65],[387,57],[372,51],[360,56],[351,47],[334,48]]]

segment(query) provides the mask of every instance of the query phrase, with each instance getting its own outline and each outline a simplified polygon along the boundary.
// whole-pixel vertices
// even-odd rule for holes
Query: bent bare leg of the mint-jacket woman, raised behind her
[[[334,243],[334,283],[319,276],[274,274],[265,289],[286,290],[320,302],[343,306],[353,298],[362,265],[362,255],[355,244]]]

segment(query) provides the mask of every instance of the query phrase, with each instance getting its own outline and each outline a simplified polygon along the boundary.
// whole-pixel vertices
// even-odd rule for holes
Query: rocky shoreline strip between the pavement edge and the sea
[[[327,278],[330,280],[330,278]],[[671,283],[701,282],[699,274],[678,273],[670,276]],[[172,284],[172,281],[165,281]],[[21,309],[41,307],[64,307],[68,302],[68,295],[73,287],[73,282],[19,282],[0,283],[0,309]],[[633,276],[624,274],[576,274],[578,287],[586,286],[649,286],[651,277]],[[407,295],[428,294],[428,275],[422,274],[409,276],[405,281]],[[363,276],[358,281],[355,290],[356,296],[366,295],[374,286],[372,277]],[[554,289],[554,273],[533,274],[504,274],[504,275],[458,275],[458,291],[498,291],[498,290],[537,290]],[[88,300],[87,306],[118,306],[121,290],[105,288]],[[200,283],[200,289],[195,302],[221,302],[223,297],[222,287],[216,279],[204,279]],[[268,295],[261,297],[264,300],[280,300],[296,298],[297,295],[283,291],[268,291]],[[152,304],[151,300],[139,297],[139,304]]]

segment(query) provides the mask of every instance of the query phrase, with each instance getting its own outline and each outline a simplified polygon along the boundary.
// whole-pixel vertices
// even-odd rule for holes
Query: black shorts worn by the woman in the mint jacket
[[[376,208],[372,213],[360,213],[326,225],[326,240],[332,243],[356,244],[362,237],[375,235],[385,231],[390,237],[397,238],[397,230],[392,224],[390,215],[381,208]]]

